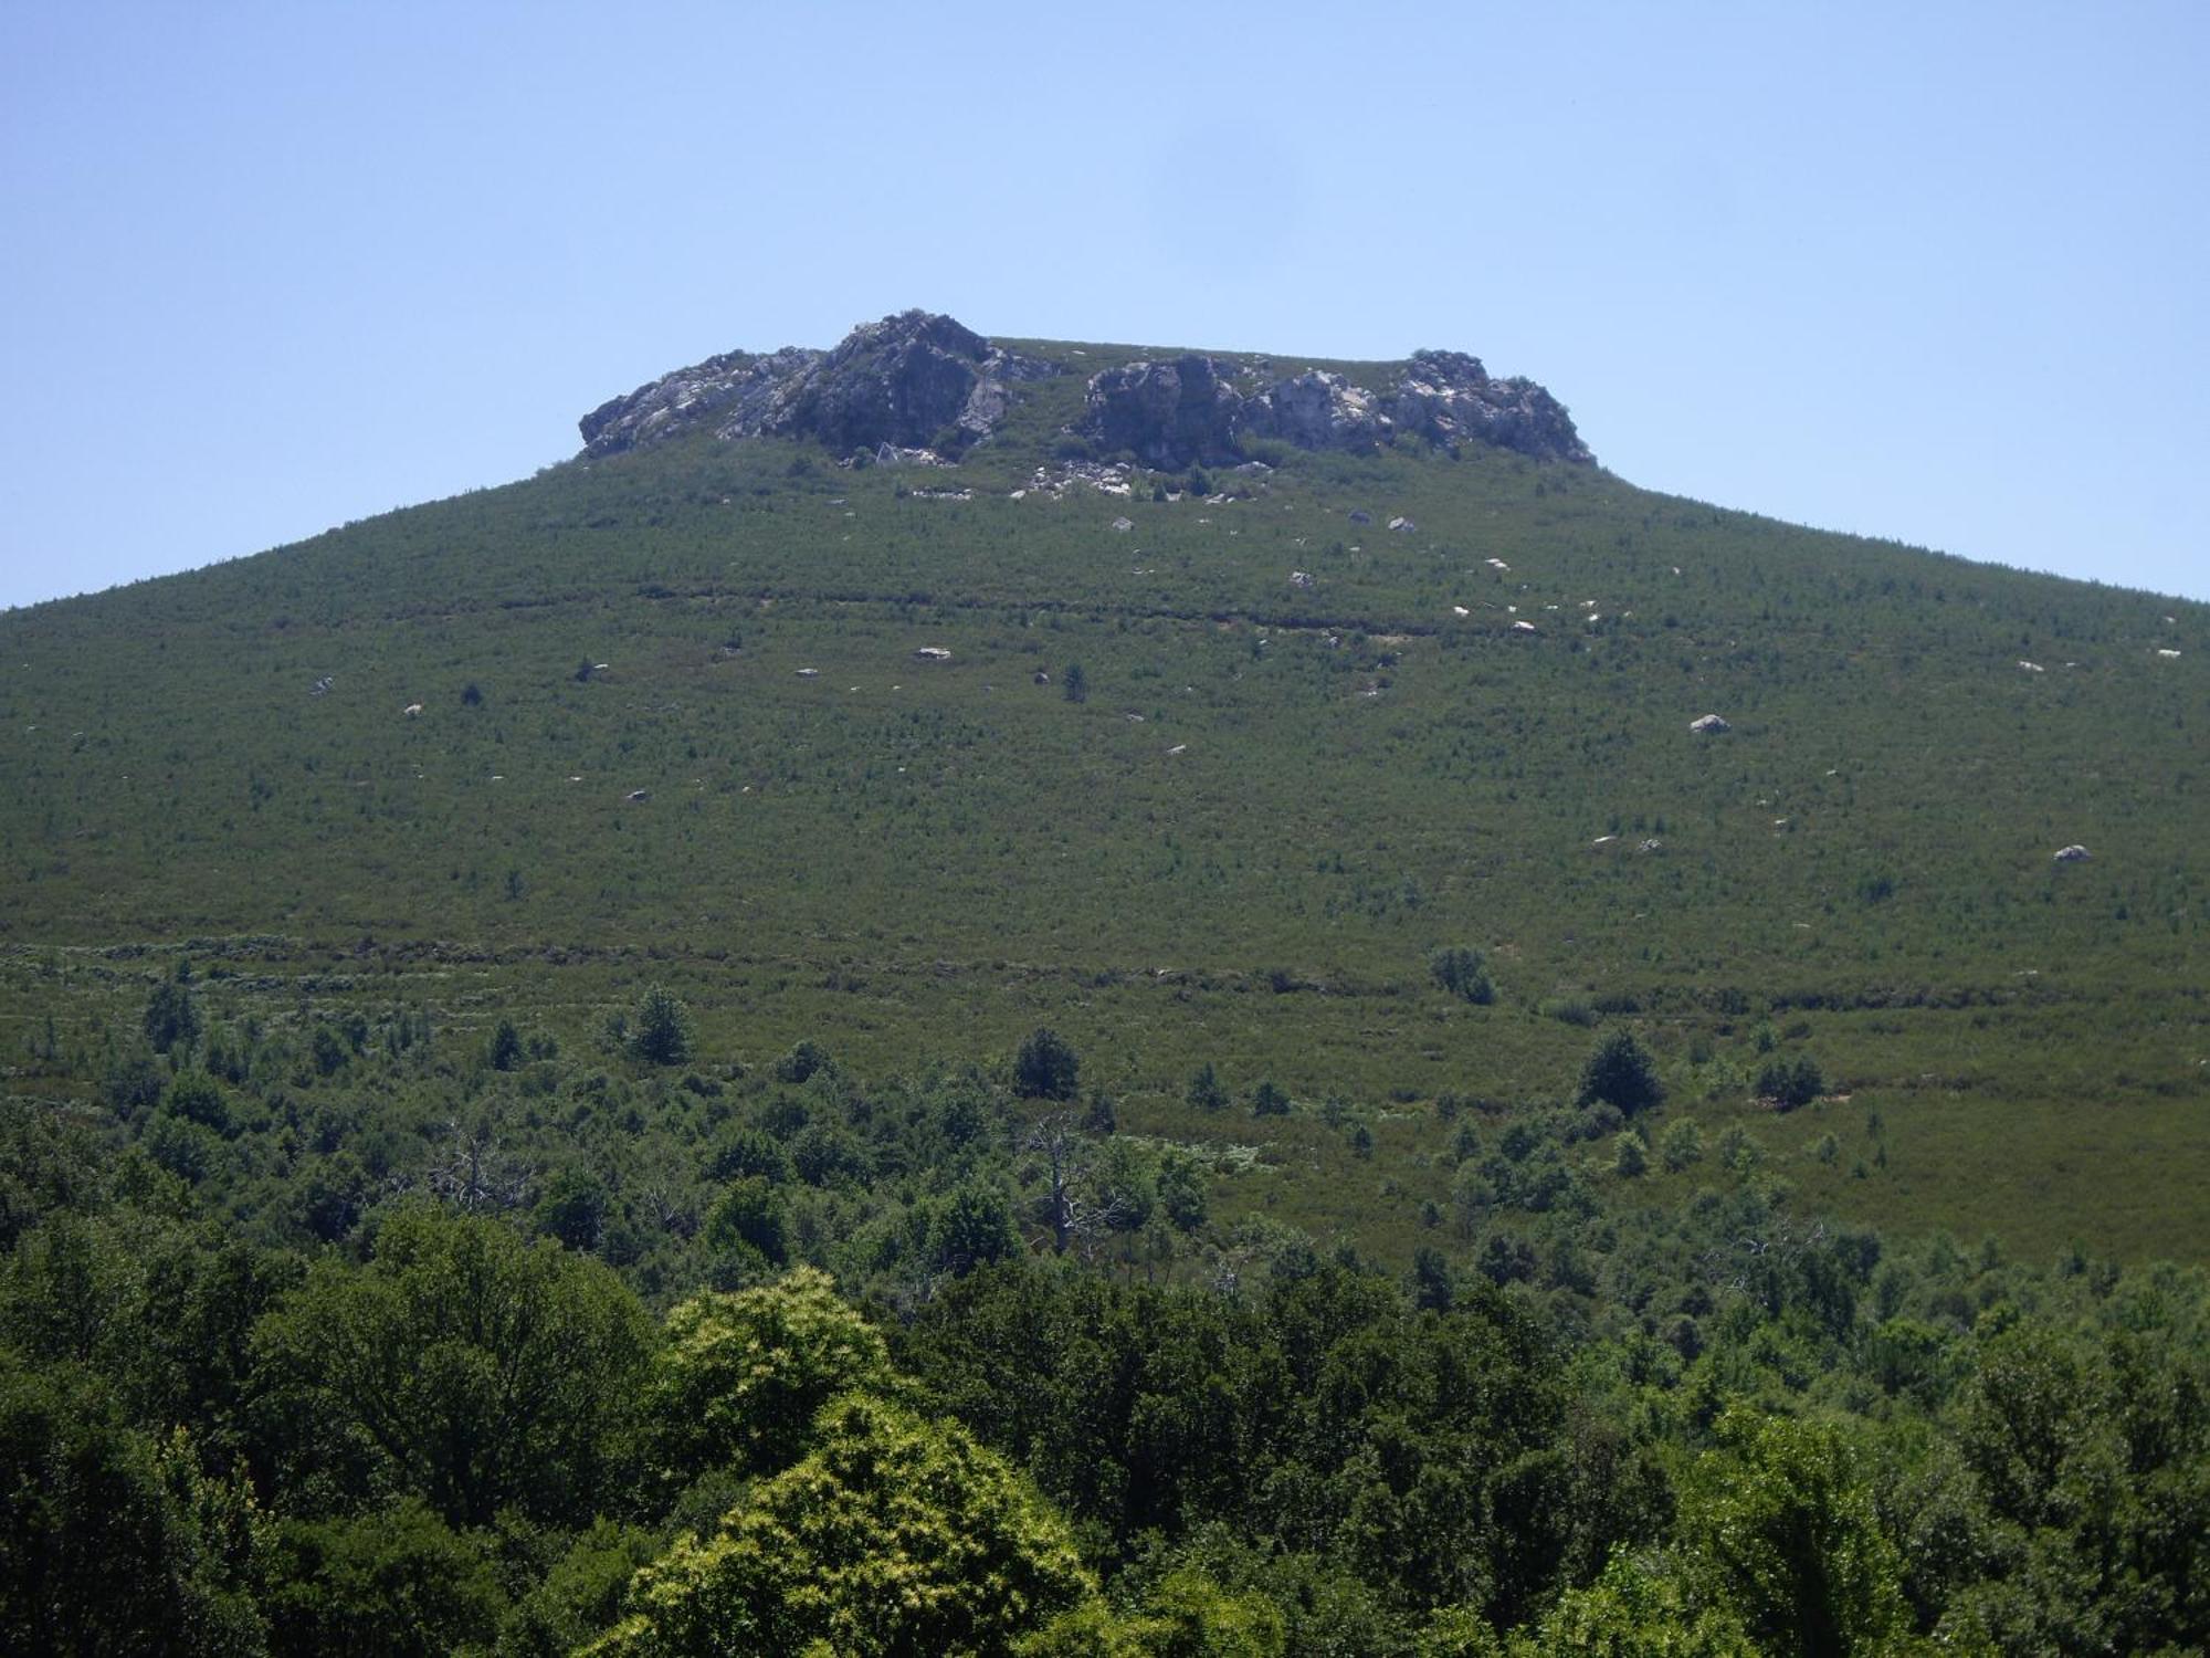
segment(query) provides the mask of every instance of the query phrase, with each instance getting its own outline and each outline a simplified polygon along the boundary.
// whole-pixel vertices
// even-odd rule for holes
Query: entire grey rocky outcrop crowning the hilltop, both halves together
[[[831,351],[707,358],[612,398],[579,424],[590,455],[698,427],[718,438],[815,438],[842,453],[886,444],[955,455],[997,429],[1023,382],[1074,367],[915,309],[855,327]],[[1536,460],[1593,462],[1549,391],[1525,378],[1496,380],[1463,351],[1414,351],[1377,365],[1364,382],[1313,367],[1280,376],[1264,360],[1196,351],[1134,356],[1090,376],[1081,418],[1065,436],[1147,466],[1235,462],[1251,438],[1348,451],[1397,438],[1450,451],[1485,442]]]

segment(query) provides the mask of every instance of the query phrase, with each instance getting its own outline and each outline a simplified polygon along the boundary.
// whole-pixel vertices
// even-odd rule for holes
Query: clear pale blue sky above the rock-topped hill
[[[2210,7],[0,7],[0,604],[908,305],[1483,356],[1622,478],[2210,597]]]

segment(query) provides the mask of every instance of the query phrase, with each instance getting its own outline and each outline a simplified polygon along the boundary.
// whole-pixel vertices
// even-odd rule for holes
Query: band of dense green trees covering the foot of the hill
[[[0,1638],[208,1654],[2190,1651],[2197,1269],[1901,1247],[1445,1101],[1408,1271],[1078,1057],[712,1066],[161,986],[0,1112]],[[1622,1203],[1638,1152],[1702,1163]],[[1266,1178],[1249,1174],[1240,1178]]]

